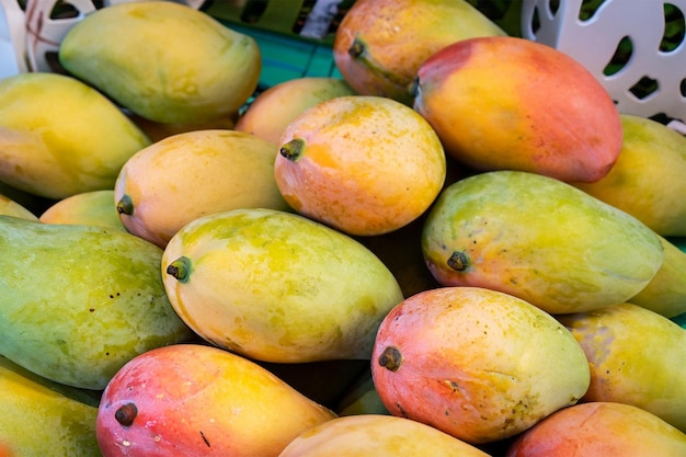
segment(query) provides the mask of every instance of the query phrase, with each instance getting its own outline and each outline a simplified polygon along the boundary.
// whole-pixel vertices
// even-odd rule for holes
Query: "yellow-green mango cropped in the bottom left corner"
[[[0,356],[0,456],[102,456],[92,398]]]

